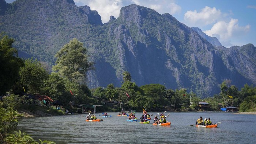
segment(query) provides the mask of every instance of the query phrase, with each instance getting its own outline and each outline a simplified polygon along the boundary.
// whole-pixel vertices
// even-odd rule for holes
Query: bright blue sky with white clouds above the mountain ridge
[[[14,0],[5,0],[11,3]],[[170,13],[188,27],[199,27],[227,48],[256,46],[256,0],[74,0],[98,11],[102,23],[118,17],[121,7],[136,4],[160,14]]]

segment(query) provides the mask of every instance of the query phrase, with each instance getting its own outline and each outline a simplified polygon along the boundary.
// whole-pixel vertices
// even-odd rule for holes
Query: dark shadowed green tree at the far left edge
[[[24,65],[12,43],[13,39],[0,34],[0,94],[5,94],[18,81],[19,69]]]

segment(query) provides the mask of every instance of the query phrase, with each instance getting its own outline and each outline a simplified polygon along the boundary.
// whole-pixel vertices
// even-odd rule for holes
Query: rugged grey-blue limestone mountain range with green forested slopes
[[[83,42],[95,62],[95,71],[88,73],[91,88],[110,83],[120,87],[123,71],[139,86],[184,87],[204,97],[219,93],[225,79],[238,88],[256,84],[255,46],[213,46],[169,13],[132,4],[102,24],[97,11],[77,7],[73,0],[0,4],[0,31],[15,39],[21,56],[53,65],[64,44],[72,38]]]

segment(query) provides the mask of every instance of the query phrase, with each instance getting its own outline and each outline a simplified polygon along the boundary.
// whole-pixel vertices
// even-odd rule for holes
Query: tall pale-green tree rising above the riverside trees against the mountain
[[[88,61],[87,49],[76,38],[65,44],[55,57],[53,70],[73,82],[85,83],[86,72],[93,69],[93,62]]]

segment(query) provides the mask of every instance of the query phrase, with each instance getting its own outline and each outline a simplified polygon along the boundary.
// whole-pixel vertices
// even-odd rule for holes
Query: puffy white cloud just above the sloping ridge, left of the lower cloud
[[[184,20],[189,26],[206,26],[217,22],[217,20],[222,19],[223,14],[221,10],[216,9],[215,7],[205,7],[201,12],[187,11],[184,14]]]

